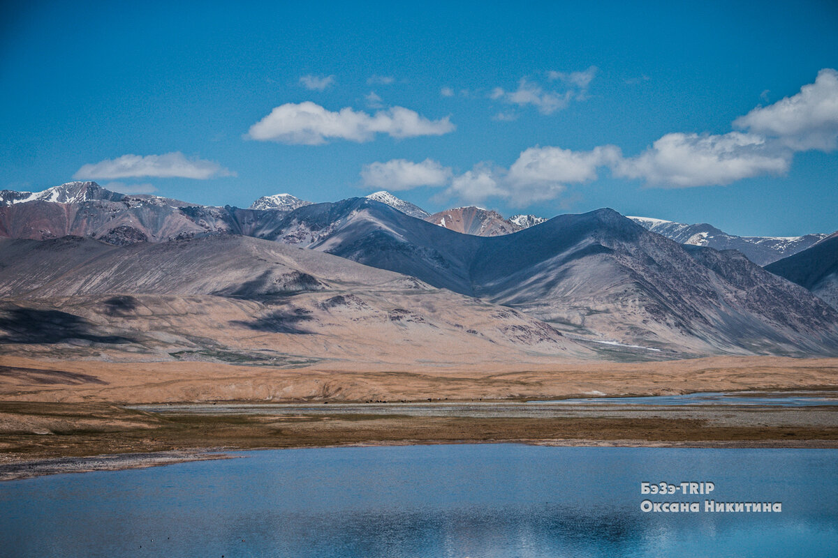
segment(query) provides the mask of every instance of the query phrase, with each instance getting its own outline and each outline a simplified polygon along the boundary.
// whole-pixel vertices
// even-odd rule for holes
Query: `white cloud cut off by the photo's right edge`
[[[832,151],[838,146],[838,72],[821,69],[814,84],[733,121],[738,128],[778,138],[794,151]]]

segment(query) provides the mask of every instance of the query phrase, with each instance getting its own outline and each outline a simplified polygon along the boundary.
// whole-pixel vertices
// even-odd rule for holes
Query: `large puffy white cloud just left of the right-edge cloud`
[[[789,170],[791,154],[756,134],[666,134],[639,156],[616,161],[615,176],[660,187],[727,185]]]

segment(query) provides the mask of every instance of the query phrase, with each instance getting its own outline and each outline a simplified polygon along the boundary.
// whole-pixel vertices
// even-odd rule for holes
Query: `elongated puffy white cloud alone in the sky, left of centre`
[[[305,101],[277,106],[271,114],[252,125],[247,135],[254,140],[314,146],[336,138],[370,141],[376,133],[396,138],[442,136],[454,129],[448,116],[428,120],[401,106],[369,115],[349,107],[333,112]]]

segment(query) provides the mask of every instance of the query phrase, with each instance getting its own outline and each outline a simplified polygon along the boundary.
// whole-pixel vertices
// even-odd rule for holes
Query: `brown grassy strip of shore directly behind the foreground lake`
[[[779,392],[789,398],[801,393],[835,393],[820,386],[748,391]],[[838,406],[567,405],[520,399],[141,405],[0,401],[0,437],[0,480],[11,480],[145,468],[230,458],[230,452],[285,448],[526,443],[552,447],[834,449],[838,448]]]

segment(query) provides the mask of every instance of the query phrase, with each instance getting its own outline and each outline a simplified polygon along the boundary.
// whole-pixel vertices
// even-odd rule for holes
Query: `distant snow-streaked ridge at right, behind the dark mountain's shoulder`
[[[665,219],[631,217],[641,227],[681,244],[708,246],[716,250],[738,250],[754,264],[768,265],[799,253],[826,238],[826,234],[805,234],[801,237],[737,237],[708,223],[676,223]]]

